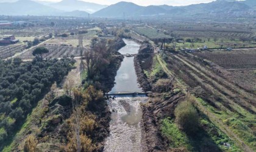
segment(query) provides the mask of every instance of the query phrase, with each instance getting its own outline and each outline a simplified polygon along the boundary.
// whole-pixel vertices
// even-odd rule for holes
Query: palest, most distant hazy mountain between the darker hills
[[[100,4],[95,4],[93,2],[84,2],[84,1],[78,1],[78,0],[63,0],[54,4],[49,4],[49,6],[63,10],[63,11],[74,11],[74,10],[81,10],[85,11],[88,13],[94,13],[98,10],[101,10],[107,5],[100,5]]]

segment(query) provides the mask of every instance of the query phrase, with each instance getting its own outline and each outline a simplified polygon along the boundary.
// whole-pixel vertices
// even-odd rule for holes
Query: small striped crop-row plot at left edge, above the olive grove
[[[0,46],[0,59],[12,57],[18,52],[22,52],[26,48],[24,44],[12,44],[7,46]]]

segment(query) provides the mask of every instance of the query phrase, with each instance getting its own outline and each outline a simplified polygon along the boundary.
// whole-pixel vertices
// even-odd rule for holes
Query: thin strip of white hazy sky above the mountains
[[[0,0],[1,1],[1,0]],[[43,1],[43,0],[40,0]],[[61,1],[61,0],[48,0],[48,1]],[[119,2],[120,0],[82,0],[87,2],[95,2],[98,4],[111,5]],[[124,0],[127,2],[133,2],[138,5],[190,5],[190,4],[198,4],[201,2],[212,2],[215,0]]]

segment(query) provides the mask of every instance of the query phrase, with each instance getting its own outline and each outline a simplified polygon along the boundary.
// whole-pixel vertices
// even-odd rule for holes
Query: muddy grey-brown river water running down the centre
[[[140,44],[124,40],[127,44],[119,50],[121,54],[137,54]],[[141,92],[137,83],[133,57],[125,57],[115,77],[115,86],[110,92]],[[116,97],[108,100],[112,111],[110,136],[105,141],[104,151],[141,150],[141,108],[147,97]]]

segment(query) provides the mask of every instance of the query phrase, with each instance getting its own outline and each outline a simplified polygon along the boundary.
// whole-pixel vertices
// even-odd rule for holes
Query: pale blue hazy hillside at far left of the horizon
[[[0,5],[1,15],[54,15],[63,11],[30,0],[4,2]]]

